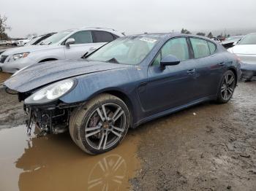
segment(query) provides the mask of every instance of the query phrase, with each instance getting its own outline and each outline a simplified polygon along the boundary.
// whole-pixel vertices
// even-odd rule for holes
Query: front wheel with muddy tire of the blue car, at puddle
[[[75,144],[90,155],[108,152],[124,139],[129,128],[129,116],[124,101],[114,95],[101,94],[72,112],[69,133]]]

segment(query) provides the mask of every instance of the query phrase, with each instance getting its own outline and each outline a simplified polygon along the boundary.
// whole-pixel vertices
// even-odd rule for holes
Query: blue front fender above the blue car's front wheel
[[[86,74],[77,77],[76,87],[60,100],[67,104],[88,101],[99,93],[113,90],[129,96],[136,90],[137,85],[135,84],[140,81],[141,77],[140,72],[136,69],[118,69]]]

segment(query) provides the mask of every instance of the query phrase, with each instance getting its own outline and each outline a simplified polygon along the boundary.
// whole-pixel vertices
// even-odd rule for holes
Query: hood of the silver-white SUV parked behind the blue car
[[[23,52],[35,52],[38,50],[45,50],[49,49],[50,45],[29,45],[29,46],[24,46],[24,47],[15,47],[11,48],[10,50],[5,50],[3,52],[3,55],[15,55],[18,53],[23,53]],[[53,46],[53,45],[51,45]]]

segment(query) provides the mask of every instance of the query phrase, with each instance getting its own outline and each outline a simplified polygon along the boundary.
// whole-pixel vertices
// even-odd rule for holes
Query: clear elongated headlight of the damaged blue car
[[[53,83],[52,85],[43,87],[41,90],[33,93],[29,98],[26,98],[25,104],[46,104],[61,97],[61,95],[67,93],[74,86],[74,79],[65,79]]]

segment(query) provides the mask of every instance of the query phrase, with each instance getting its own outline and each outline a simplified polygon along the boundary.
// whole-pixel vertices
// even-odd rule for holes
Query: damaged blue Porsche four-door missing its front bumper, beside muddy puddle
[[[240,77],[236,55],[202,36],[141,34],[78,61],[38,63],[4,82],[42,134],[69,130],[89,154],[108,152],[143,122],[204,101],[227,103]]]

